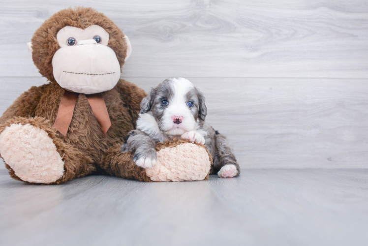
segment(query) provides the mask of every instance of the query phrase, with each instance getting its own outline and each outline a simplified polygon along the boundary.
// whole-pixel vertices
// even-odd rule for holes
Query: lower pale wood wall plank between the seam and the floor
[[[125,78],[146,91],[166,78]],[[242,168],[368,168],[362,79],[189,78]],[[0,78],[0,114],[44,78]],[[348,86],[347,86],[348,85]],[[2,167],[3,168],[3,167]]]

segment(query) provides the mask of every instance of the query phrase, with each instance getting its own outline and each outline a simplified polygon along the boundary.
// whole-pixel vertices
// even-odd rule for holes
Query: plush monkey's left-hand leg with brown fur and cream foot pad
[[[44,118],[12,118],[0,125],[0,154],[9,174],[34,184],[61,184],[92,173],[92,159],[58,137]]]

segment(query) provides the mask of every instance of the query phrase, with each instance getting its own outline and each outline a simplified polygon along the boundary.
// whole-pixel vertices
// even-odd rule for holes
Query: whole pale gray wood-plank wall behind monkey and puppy
[[[129,36],[124,79],[203,91],[242,168],[368,167],[367,0],[0,0],[0,114],[46,83],[26,43],[69,6]]]

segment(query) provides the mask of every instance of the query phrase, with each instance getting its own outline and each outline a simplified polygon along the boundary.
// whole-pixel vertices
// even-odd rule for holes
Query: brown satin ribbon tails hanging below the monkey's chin
[[[79,93],[65,91],[61,97],[58,115],[56,117],[54,127],[60,133],[66,136],[71,119],[73,118],[75,104],[77,103]],[[109,113],[107,112],[105,101],[101,93],[87,95],[94,117],[101,126],[103,134],[106,136],[107,130],[111,126]]]

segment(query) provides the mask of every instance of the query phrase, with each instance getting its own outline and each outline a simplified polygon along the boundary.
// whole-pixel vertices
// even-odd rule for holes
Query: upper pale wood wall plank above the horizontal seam
[[[126,77],[368,78],[366,0],[1,0],[0,76],[39,76],[26,43],[79,5],[129,36]]]

